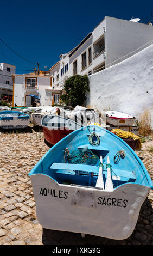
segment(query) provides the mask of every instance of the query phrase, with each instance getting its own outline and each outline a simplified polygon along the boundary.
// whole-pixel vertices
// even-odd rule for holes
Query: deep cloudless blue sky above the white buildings
[[[0,62],[16,65],[16,74],[30,72],[37,62],[48,70],[61,53],[72,50],[105,16],[153,20],[152,1],[1,1]],[[47,66],[47,69],[44,69]]]

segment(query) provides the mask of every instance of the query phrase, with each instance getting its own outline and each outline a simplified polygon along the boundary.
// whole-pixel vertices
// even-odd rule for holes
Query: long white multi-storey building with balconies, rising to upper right
[[[117,64],[152,39],[153,26],[105,16],[78,46],[61,54],[60,61],[50,68],[54,88],[62,89],[70,76],[91,75]]]

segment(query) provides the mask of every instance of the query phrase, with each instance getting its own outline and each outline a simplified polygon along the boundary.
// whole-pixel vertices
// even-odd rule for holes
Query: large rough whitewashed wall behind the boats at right
[[[89,76],[87,105],[138,117],[151,109],[153,99],[153,45],[123,62]],[[153,114],[152,114],[153,126]]]

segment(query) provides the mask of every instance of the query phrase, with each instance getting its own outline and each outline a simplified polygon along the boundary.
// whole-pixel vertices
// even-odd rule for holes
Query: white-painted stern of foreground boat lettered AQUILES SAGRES
[[[112,192],[61,185],[44,174],[30,175],[36,214],[43,228],[126,239],[137,223],[150,187],[124,184]]]

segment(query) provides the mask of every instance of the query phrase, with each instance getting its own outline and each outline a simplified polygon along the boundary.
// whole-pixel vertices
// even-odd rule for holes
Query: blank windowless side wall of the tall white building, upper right
[[[153,39],[153,26],[105,17],[106,66]]]

